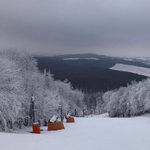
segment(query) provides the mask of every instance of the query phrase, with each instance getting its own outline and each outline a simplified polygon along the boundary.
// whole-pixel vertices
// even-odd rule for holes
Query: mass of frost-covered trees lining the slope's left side
[[[81,110],[83,93],[70,83],[55,81],[50,72],[38,71],[37,62],[26,52],[0,52],[0,129],[18,120],[32,119],[31,97],[35,97],[36,120],[50,119],[59,110]]]

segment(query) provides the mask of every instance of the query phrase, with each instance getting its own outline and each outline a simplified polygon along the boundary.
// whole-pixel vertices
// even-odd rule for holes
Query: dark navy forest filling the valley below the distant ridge
[[[121,86],[127,86],[133,80],[146,79],[142,75],[108,69],[108,66],[111,67],[115,61],[112,63],[112,60],[108,61],[107,59],[107,61],[104,61],[106,64],[103,67],[97,67],[99,62],[95,60],[63,61],[50,57],[36,57],[36,59],[41,71],[46,68],[54,74],[54,79],[61,81],[68,79],[74,88],[81,89],[84,92],[90,92],[91,90],[93,92],[106,92]]]

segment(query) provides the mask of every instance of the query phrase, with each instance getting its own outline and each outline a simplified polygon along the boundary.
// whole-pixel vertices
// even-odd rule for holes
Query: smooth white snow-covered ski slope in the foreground
[[[107,114],[75,118],[65,129],[0,133],[1,150],[149,150],[150,116],[109,118]],[[31,129],[30,129],[31,130]]]

